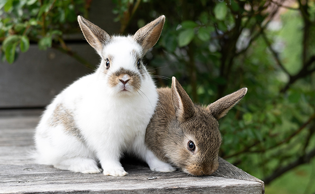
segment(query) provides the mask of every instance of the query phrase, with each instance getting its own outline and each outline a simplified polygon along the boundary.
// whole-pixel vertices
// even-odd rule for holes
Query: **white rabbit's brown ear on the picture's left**
[[[82,16],[78,16],[78,22],[85,39],[101,54],[103,46],[110,41],[110,35]]]

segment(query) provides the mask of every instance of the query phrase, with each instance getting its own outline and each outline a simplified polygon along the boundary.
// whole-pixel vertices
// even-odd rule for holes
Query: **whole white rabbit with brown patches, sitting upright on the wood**
[[[144,144],[158,95],[141,59],[157,43],[165,16],[133,36],[110,36],[81,16],[78,21],[101,63],[47,106],[34,137],[36,161],[74,172],[100,173],[102,168],[104,175],[124,176],[119,160],[126,152],[152,170],[173,171]]]

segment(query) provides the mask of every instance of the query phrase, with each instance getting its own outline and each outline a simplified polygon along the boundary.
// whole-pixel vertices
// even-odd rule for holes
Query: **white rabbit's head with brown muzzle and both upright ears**
[[[110,36],[82,16],[78,16],[78,21],[85,39],[101,57],[98,79],[107,81],[114,94],[139,93],[145,87],[143,84],[151,79],[142,57],[157,43],[165,16],[158,17],[132,36]]]

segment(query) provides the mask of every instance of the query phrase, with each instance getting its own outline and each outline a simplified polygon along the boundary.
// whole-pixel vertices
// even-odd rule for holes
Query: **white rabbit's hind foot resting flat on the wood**
[[[73,172],[80,172],[85,174],[101,173],[102,170],[98,168],[97,162],[90,158],[70,158],[54,164],[55,168],[62,170],[70,170]]]

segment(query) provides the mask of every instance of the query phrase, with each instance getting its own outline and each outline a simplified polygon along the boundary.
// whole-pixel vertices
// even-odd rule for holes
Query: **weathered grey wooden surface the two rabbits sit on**
[[[125,161],[129,175],[109,177],[38,165],[30,158],[39,112],[0,112],[0,193],[217,193],[263,194],[264,183],[220,159],[213,176],[152,172],[144,163]],[[154,177],[154,179],[150,179]]]

